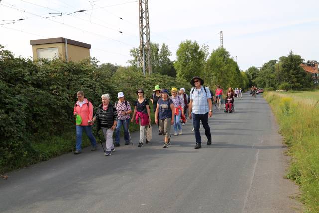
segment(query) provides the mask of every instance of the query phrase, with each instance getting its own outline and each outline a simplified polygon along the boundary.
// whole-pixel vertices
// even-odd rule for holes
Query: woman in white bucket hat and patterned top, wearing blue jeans
[[[118,112],[118,120],[115,130],[115,143],[114,146],[120,146],[120,129],[123,126],[124,130],[124,141],[125,145],[130,144],[130,135],[129,135],[129,123],[131,118],[131,105],[130,103],[125,100],[123,92],[118,93],[118,101],[115,102],[115,108]]]

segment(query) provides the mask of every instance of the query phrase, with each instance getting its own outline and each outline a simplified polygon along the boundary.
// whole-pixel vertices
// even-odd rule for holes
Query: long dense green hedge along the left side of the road
[[[157,84],[167,89],[190,89],[188,82],[176,78],[143,76],[131,67],[119,67],[117,71],[114,68],[118,67],[99,66],[95,59],[66,63],[58,59],[38,62],[17,58],[0,45],[0,173],[74,148],[72,112],[79,90],[96,108],[105,93],[114,103],[117,93],[123,91],[132,103],[138,88],[144,89],[147,98]],[[130,124],[131,131],[136,129],[138,125]]]

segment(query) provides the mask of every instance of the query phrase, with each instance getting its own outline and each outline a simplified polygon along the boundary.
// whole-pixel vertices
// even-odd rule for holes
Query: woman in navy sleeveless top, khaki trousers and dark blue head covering
[[[168,97],[168,90],[161,90],[161,98],[158,100],[155,111],[155,123],[160,124],[160,131],[164,135],[164,146],[170,143],[170,127],[174,124],[175,107],[173,101]]]

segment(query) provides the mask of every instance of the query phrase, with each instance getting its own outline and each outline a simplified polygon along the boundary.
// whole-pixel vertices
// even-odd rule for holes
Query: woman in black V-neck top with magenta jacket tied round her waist
[[[138,89],[136,91],[138,99],[133,102],[134,112],[131,122],[134,121],[140,125],[140,143],[138,147],[143,147],[144,137],[146,137],[146,127],[151,124],[150,106],[148,99],[144,98],[143,89]],[[145,143],[148,144],[149,141],[145,139]]]

